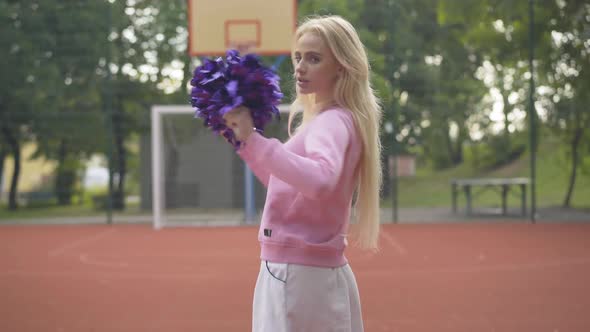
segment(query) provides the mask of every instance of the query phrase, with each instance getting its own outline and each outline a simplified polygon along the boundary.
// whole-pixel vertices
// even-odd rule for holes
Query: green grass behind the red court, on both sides
[[[570,169],[565,161],[563,147],[556,142],[544,142],[537,154],[537,205],[539,207],[561,206],[569,180]],[[449,207],[451,205],[451,186],[453,178],[473,177],[530,177],[530,155],[524,153],[514,162],[490,171],[477,171],[464,163],[458,167],[442,171],[420,168],[416,176],[400,178],[398,187],[399,207]],[[517,188],[509,194],[508,205],[520,205],[520,193]],[[499,207],[500,193],[481,187],[473,189],[474,207]],[[104,216],[105,211],[95,209],[91,196],[100,192],[85,193],[84,202],[72,206],[45,206],[35,208],[20,208],[9,211],[6,206],[0,206],[0,223],[7,219],[35,219],[47,217],[84,217]],[[530,187],[527,193],[527,205],[530,205]],[[584,174],[578,169],[578,176],[574,188],[571,205],[574,208],[590,209],[590,174]],[[465,206],[464,195],[459,195],[459,207]],[[391,207],[391,197],[382,201],[383,207]],[[115,212],[116,215],[149,214],[141,211],[137,204],[129,206],[125,211]]]

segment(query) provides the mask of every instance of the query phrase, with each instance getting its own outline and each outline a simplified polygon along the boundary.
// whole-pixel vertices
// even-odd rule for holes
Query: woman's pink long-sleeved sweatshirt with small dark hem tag
[[[261,259],[338,267],[344,248],[362,145],[352,115],[318,114],[286,143],[258,133],[238,151],[267,186],[258,232]]]

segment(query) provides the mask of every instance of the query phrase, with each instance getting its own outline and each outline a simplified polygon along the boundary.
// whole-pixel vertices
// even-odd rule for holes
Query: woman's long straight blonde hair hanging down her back
[[[363,249],[377,249],[379,238],[379,190],[381,188],[381,141],[379,125],[381,106],[371,88],[367,53],[354,27],[339,16],[308,18],[295,32],[294,42],[306,33],[320,36],[334,54],[343,72],[334,87],[334,101],[352,113],[362,138],[356,210],[356,244]],[[297,95],[289,114],[288,128],[297,109],[303,108],[300,127],[317,113],[314,95]]]

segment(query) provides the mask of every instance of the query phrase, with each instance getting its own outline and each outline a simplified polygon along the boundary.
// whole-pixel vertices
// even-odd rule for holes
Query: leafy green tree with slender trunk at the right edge
[[[569,157],[569,179],[562,205],[570,207],[576,177],[590,155],[590,7],[584,1],[556,3],[553,19],[544,22],[548,49],[540,76],[549,87],[544,104],[548,124],[562,139]]]

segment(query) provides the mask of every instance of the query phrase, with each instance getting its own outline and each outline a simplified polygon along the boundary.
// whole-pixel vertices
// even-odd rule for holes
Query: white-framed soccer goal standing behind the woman
[[[290,105],[265,136],[287,136]],[[238,225],[258,221],[266,190],[233,147],[195,118],[191,106],[155,105],[151,111],[151,189],[154,228]],[[254,218],[248,218],[252,214]],[[249,220],[253,219],[253,220]]]

